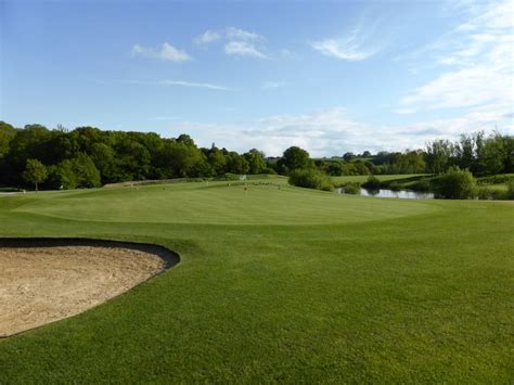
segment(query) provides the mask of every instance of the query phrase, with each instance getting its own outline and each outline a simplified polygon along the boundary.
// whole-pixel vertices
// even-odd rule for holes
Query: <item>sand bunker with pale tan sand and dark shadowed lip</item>
[[[0,240],[0,337],[126,292],[178,261],[166,252],[115,242]]]

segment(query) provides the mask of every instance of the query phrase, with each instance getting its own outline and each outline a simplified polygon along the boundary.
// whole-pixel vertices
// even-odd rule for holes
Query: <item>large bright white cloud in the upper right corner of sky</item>
[[[470,20],[425,49],[427,55],[437,55],[445,69],[409,92],[400,110],[471,112],[497,105],[513,112],[514,1],[475,3],[468,13]]]

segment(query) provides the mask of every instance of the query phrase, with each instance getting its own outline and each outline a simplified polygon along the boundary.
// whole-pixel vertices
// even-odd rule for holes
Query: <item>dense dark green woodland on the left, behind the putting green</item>
[[[49,130],[40,125],[15,129],[0,123],[0,185],[23,185],[22,172],[28,158],[48,168],[47,189],[274,172],[255,149],[242,155],[214,144],[198,149],[187,134],[164,139],[153,132],[102,131],[94,127]]]

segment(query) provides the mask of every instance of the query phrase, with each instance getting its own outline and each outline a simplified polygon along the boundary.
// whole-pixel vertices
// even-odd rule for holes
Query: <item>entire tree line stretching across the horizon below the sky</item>
[[[92,188],[131,180],[213,178],[228,174],[291,175],[318,169],[330,176],[442,174],[450,167],[474,175],[514,172],[514,138],[483,131],[459,141],[436,140],[426,149],[369,151],[313,159],[300,147],[267,158],[256,149],[239,154],[214,143],[198,147],[188,134],[162,138],[154,132],[104,131],[94,127],[15,128],[0,121],[0,185],[41,184],[44,189]]]

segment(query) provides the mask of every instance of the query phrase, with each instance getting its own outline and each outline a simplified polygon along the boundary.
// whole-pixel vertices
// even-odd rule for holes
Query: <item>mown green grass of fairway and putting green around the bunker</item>
[[[0,383],[513,382],[512,202],[264,183],[0,196],[0,236],[181,255],[102,306],[1,339]]]

